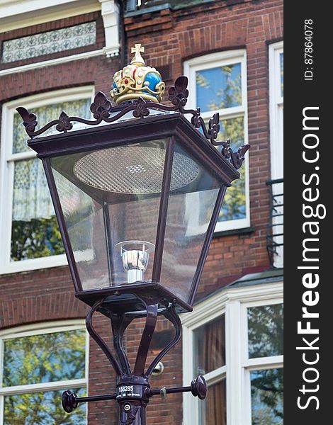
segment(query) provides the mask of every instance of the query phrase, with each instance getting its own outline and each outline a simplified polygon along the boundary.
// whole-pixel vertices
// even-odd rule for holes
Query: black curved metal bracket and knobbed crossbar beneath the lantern
[[[161,361],[166,353],[178,343],[179,339],[181,339],[181,320],[176,313],[174,305],[169,305],[169,307],[166,307],[166,309],[161,312],[158,308],[159,300],[152,298],[142,298],[141,300],[143,305],[145,305],[146,322],[142,331],[133,370],[130,368],[130,363],[123,345],[123,336],[132,320],[142,317],[142,312],[113,314],[112,311],[108,311],[113,331],[114,356],[93,325],[94,313],[101,308],[110,308],[106,303],[106,297],[98,300],[94,306],[91,307],[91,310],[86,315],[86,329],[98,346],[101,347],[113,366],[115,373],[118,375],[117,384],[115,385],[115,392],[107,395],[77,397],[74,392],[64,391],[62,394],[62,407],[65,412],[72,412],[77,408],[79,403],[115,399],[120,407],[120,425],[130,425],[133,424],[134,421],[135,425],[145,425],[145,409],[149,399],[155,395],[161,395],[161,397],[165,398],[167,394],[171,393],[191,392],[193,396],[199,399],[205,398],[207,395],[207,384],[203,376],[199,376],[196,380],[193,380],[188,387],[162,387],[159,390],[152,390],[150,388],[149,377],[152,375],[155,366]],[[175,329],[174,339],[160,351],[146,370],[147,354],[157,324],[158,314],[163,315],[173,324]]]

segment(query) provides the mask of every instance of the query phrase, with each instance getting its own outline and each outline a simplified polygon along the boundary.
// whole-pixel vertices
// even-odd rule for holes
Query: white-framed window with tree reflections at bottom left
[[[85,404],[67,414],[61,395],[86,395],[88,341],[84,322],[53,323],[0,333],[0,423],[86,424]]]

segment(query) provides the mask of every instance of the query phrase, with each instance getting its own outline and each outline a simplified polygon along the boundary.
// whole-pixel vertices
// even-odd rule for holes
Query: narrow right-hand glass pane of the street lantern
[[[188,302],[222,183],[176,143],[174,157],[179,154],[197,164],[199,171],[194,181],[170,191],[160,282],[181,300]],[[186,169],[179,170],[173,166],[171,181],[175,174],[185,175],[186,172]]]

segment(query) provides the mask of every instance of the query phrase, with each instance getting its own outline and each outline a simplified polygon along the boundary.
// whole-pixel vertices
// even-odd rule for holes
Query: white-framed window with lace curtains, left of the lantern
[[[26,146],[28,136],[17,106],[25,106],[42,127],[68,115],[90,117],[92,87],[55,91],[4,104],[1,128],[0,273],[66,263],[42,163]],[[51,128],[49,132],[54,131]]]

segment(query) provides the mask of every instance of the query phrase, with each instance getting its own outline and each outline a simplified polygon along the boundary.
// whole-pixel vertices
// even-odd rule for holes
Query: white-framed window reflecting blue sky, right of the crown
[[[233,150],[247,143],[247,69],[244,50],[213,53],[196,57],[184,64],[189,79],[188,106],[200,106],[208,122],[214,112],[220,113],[218,140],[231,140]],[[225,203],[215,232],[249,227],[248,160],[239,170],[242,178],[234,181],[225,196]]]

